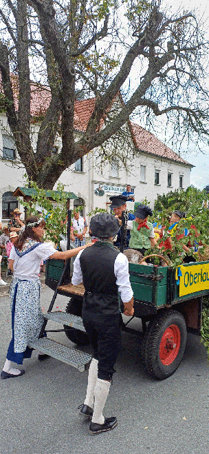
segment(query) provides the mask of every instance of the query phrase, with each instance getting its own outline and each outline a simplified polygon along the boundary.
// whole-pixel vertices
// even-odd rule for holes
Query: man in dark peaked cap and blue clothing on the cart
[[[127,196],[123,196],[120,194],[119,196],[111,196],[109,198],[111,200],[111,205],[110,208],[113,210],[113,213],[115,214],[115,218],[118,218],[120,225],[122,224],[122,211],[126,211],[126,201],[127,201]],[[135,216],[134,214],[128,213],[128,220],[134,220]],[[124,249],[129,247],[129,240],[130,240],[130,230],[127,229],[126,231],[126,238],[124,242]],[[120,249],[120,244],[121,244],[121,228],[118,231],[118,236],[116,241],[114,241],[114,245]]]

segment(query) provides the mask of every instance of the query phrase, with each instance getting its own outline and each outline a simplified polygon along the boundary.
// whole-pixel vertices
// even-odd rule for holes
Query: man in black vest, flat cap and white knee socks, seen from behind
[[[115,372],[113,367],[120,351],[121,315],[118,291],[124,304],[124,314],[133,316],[129,262],[113,248],[113,237],[119,228],[118,219],[111,214],[94,216],[90,229],[98,241],[80,251],[74,261],[72,284],[78,285],[83,280],[83,324],[94,348],[86,398],[79,407],[80,415],[92,418],[89,426],[91,435],[110,431],[117,426],[116,417],[104,417],[102,411]]]

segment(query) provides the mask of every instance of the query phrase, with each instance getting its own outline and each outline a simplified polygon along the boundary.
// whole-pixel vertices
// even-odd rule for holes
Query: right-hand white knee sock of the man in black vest
[[[97,424],[104,424],[104,416],[102,415],[102,411],[109,394],[109,387],[110,382],[97,378],[96,386],[94,388],[94,413],[91,420],[92,422],[96,422]]]

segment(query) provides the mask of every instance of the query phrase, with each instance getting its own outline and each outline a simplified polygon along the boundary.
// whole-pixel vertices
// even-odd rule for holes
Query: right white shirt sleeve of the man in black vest
[[[129,280],[129,261],[121,252],[115,258],[114,274],[122,302],[129,302],[133,296]]]

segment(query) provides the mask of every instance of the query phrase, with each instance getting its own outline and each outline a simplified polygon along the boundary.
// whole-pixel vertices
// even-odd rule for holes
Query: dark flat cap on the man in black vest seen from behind
[[[109,213],[99,213],[91,218],[91,234],[98,238],[111,238],[118,234],[120,224],[118,218]]]

